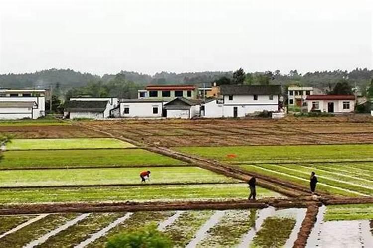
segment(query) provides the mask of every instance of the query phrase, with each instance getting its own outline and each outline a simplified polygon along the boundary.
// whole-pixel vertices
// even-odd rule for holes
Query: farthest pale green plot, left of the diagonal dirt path
[[[12,139],[6,150],[128,148],[134,145],[113,138]]]

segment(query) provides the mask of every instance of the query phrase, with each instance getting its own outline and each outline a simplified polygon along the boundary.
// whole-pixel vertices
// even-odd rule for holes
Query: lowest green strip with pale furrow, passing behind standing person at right
[[[307,187],[309,186],[308,179],[304,179],[298,176],[289,175],[287,173],[278,172],[278,171],[262,168],[260,166],[255,166],[255,165],[245,165],[245,166],[240,166],[240,167],[248,171],[253,170],[257,173],[262,173],[266,176],[279,177],[280,179],[283,179],[283,180],[289,180],[290,182],[296,182]],[[318,188],[321,188],[322,190],[325,190],[325,191],[330,191],[333,193],[346,195],[346,196],[351,196],[351,195],[369,196],[368,194],[363,194],[357,191],[353,191],[353,190],[349,190],[349,189],[337,187],[337,186],[331,186],[331,185],[327,185],[324,183],[318,183]]]

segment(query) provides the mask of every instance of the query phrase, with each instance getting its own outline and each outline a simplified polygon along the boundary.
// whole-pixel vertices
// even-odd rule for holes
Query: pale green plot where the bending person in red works
[[[99,168],[0,171],[0,186],[64,186],[141,184],[140,172],[149,168]],[[151,183],[235,183],[230,177],[199,167],[151,168]]]

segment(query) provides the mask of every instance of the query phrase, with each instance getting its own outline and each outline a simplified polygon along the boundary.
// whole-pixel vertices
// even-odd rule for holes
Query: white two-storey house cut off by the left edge
[[[0,89],[0,119],[45,116],[45,94],[44,89]]]

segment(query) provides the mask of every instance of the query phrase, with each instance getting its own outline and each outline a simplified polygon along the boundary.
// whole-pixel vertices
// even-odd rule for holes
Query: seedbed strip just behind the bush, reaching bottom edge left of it
[[[106,246],[107,239],[110,236],[116,235],[123,231],[128,231],[128,229],[137,229],[143,227],[146,224],[151,222],[160,222],[171,215],[173,212],[160,212],[160,211],[151,211],[151,212],[136,212],[131,215],[127,220],[122,224],[114,227],[109,231],[106,236],[103,236],[87,246],[87,248],[104,248]]]

